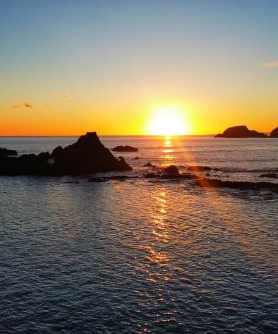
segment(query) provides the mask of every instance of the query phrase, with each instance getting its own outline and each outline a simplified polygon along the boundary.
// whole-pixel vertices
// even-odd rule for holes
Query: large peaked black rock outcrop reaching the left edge
[[[104,147],[96,132],[87,132],[65,148],[58,146],[51,154],[0,158],[0,175],[80,175],[130,170],[124,158],[116,159]]]

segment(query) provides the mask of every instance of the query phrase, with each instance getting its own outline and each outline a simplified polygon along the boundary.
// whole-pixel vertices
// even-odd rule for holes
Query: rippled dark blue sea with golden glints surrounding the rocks
[[[115,154],[138,178],[0,177],[0,332],[277,333],[278,195],[141,176],[151,162],[261,181],[277,171],[278,140],[100,139],[138,148]],[[0,137],[0,147],[76,140]]]

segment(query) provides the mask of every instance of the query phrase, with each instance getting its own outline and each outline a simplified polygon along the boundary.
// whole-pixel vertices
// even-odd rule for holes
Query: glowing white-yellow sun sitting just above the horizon
[[[180,136],[189,135],[191,127],[178,108],[160,107],[150,117],[146,132],[156,136]]]

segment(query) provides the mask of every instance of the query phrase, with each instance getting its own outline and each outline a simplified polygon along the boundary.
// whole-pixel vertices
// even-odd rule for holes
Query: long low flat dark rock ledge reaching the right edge
[[[222,181],[218,179],[203,178],[197,180],[195,184],[200,187],[278,190],[278,183],[271,182]]]

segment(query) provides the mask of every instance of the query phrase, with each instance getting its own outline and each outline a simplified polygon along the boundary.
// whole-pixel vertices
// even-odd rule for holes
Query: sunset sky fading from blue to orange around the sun
[[[278,127],[276,0],[0,0],[0,135]]]

